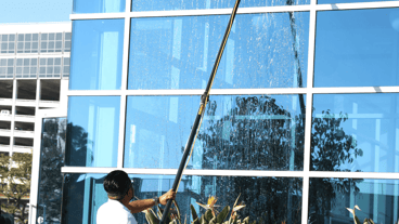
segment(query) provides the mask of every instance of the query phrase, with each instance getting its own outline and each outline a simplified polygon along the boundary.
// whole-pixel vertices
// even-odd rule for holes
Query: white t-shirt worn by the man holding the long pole
[[[137,224],[134,216],[117,200],[108,199],[96,211],[96,224]]]

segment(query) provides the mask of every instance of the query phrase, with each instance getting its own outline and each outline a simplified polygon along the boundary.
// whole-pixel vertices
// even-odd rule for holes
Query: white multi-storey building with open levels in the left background
[[[0,153],[30,153],[35,115],[66,98],[70,23],[0,26]]]

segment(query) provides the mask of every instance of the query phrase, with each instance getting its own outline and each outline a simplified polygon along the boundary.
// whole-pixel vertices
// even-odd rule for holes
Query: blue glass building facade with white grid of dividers
[[[234,1],[75,0],[62,223],[171,188]],[[178,190],[260,223],[394,223],[399,1],[242,0]],[[203,212],[203,211],[202,211]],[[144,223],[143,214],[136,214]]]

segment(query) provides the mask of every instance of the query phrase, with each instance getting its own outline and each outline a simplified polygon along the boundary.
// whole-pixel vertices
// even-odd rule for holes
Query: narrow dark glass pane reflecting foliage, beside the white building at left
[[[60,223],[62,205],[61,168],[64,167],[66,118],[46,118],[42,124],[37,218]]]

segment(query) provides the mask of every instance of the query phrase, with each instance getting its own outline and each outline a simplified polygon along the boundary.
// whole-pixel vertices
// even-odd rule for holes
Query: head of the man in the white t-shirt
[[[134,196],[131,180],[128,174],[121,170],[114,170],[105,176],[104,189],[108,194],[108,198],[114,200],[124,199],[125,196],[129,195],[130,189],[132,190],[131,198]],[[129,200],[131,200],[131,198],[129,198]]]

